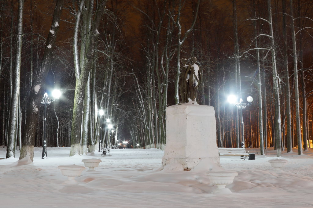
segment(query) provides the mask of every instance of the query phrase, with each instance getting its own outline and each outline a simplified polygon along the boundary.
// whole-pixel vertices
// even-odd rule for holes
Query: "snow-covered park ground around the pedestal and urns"
[[[233,193],[212,194],[205,174],[160,171],[164,151],[157,149],[112,150],[69,157],[69,147],[48,147],[48,159],[35,148],[34,162],[18,165],[16,158],[0,160],[0,207],[313,207],[313,150],[303,155],[283,152],[289,163],[283,173],[273,172],[266,156],[243,161],[221,156],[224,169],[238,172],[228,185]],[[250,153],[258,150],[249,149]],[[0,158],[6,149],[0,148]],[[66,185],[59,165],[83,166],[84,158],[100,158],[96,171],[83,171],[77,185]]]

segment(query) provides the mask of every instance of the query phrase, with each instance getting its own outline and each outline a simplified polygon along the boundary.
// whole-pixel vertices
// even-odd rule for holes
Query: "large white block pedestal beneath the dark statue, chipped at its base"
[[[213,106],[174,105],[167,107],[166,115],[162,169],[210,171],[214,166],[220,168]]]

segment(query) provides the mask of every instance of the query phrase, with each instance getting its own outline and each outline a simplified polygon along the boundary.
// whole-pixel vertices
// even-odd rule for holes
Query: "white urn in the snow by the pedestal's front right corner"
[[[224,193],[231,193],[226,185],[232,184],[235,176],[238,176],[237,172],[232,171],[208,171],[206,175],[209,177],[210,181],[217,186],[217,189],[213,193],[221,192],[222,189]]]

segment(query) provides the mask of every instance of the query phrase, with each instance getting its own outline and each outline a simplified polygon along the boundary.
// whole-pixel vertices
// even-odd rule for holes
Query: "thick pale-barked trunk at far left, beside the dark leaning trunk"
[[[9,130],[8,130],[8,144],[7,144],[7,156],[14,157],[15,153],[15,139],[17,134],[17,120],[18,120],[18,99],[20,93],[20,68],[21,68],[21,56],[22,56],[22,39],[23,39],[23,7],[24,0],[18,1],[18,30],[17,30],[17,51],[15,61],[15,73],[14,73],[14,85],[12,92],[12,99],[10,103],[10,118],[9,118]]]

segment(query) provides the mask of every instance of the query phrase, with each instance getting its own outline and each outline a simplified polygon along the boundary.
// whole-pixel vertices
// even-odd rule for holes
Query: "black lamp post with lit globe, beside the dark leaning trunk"
[[[47,156],[47,106],[54,101],[55,99],[58,99],[61,96],[61,92],[59,90],[54,90],[52,92],[52,98],[48,97],[47,92],[44,93],[44,97],[41,100],[41,104],[44,105],[44,138],[42,142],[42,156],[41,159],[48,158]]]

